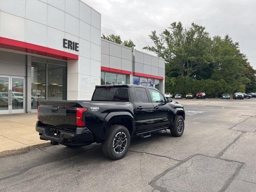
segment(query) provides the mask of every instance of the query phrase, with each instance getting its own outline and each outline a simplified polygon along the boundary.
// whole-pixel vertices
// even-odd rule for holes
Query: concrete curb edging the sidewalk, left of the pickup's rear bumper
[[[34,144],[34,145],[29,145],[29,146],[25,146],[25,147],[10,149],[10,150],[4,150],[4,151],[0,151],[0,157],[14,155],[14,154],[18,154],[18,153],[38,149],[38,148],[44,148],[44,147],[48,147],[48,146],[51,146],[51,142]]]

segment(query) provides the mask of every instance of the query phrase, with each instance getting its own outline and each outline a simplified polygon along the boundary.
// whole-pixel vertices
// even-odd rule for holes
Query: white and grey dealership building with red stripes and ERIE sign
[[[80,0],[0,0],[0,114],[39,100],[90,100],[96,85],[164,92],[164,60],[101,38],[101,14]]]

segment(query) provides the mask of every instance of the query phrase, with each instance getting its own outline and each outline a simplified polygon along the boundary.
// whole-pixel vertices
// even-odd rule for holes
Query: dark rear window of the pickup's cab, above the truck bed
[[[94,91],[92,100],[128,102],[128,90],[125,87],[98,87]]]

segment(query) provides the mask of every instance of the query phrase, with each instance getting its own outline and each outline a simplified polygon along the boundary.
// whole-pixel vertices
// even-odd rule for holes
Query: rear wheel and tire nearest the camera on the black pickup
[[[122,159],[130,147],[130,132],[125,126],[112,125],[102,142],[103,154],[112,160]]]

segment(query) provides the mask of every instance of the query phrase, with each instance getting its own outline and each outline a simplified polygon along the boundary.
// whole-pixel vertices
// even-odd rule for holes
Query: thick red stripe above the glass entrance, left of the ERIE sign
[[[32,54],[37,54],[41,56],[62,59],[62,60],[78,60],[78,55],[76,54],[72,54],[72,53],[68,53],[68,52],[64,52],[64,51],[60,51],[60,50],[56,50],[56,49],[52,49],[52,48],[48,48],[40,45],[35,45],[32,43],[27,43],[23,41],[8,39],[4,37],[0,37],[0,48],[32,53]]]

